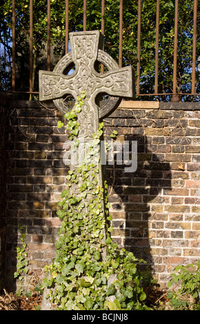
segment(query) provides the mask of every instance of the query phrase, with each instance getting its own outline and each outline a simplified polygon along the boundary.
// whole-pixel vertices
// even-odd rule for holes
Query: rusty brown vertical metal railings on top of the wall
[[[66,10],[66,40],[65,40],[65,52],[68,53],[68,34],[69,34],[69,1],[65,1],[65,10]],[[154,52],[154,93],[142,94],[140,92],[140,70],[141,70],[141,4],[142,1],[138,0],[138,25],[137,25],[137,77],[136,77],[136,96],[163,96],[163,92],[158,92],[159,86],[159,10],[160,10],[160,1],[157,0],[157,13],[156,13],[156,37],[155,37],[155,52]],[[51,15],[50,15],[50,0],[47,0],[47,70],[50,70],[50,24],[51,24]],[[174,53],[173,53],[173,79],[172,79],[172,89],[170,95],[177,94],[186,94],[192,96],[199,96],[195,90],[195,69],[197,62],[197,0],[194,0],[193,5],[193,40],[192,40],[192,84],[190,93],[177,93],[177,41],[178,41],[178,10],[179,10],[179,0],[174,1]],[[16,79],[16,69],[15,69],[15,0],[12,0],[12,92],[16,92],[15,89],[15,79]],[[105,0],[101,0],[101,32],[105,34]],[[29,65],[30,65],[30,75],[29,75],[29,91],[28,93],[38,93],[33,91],[32,85],[32,73],[33,73],[33,48],[32,48],[32,32],[33,32],[33,3],[30,0],[30,30],[29,30]],[[87,22],[87,1],[83,0],[83,30],[86,30]],[[122,66],[123,61],[123,0],[120,0],[119,3],[119,66]],[[102,72],[102,70],[101,70]]]

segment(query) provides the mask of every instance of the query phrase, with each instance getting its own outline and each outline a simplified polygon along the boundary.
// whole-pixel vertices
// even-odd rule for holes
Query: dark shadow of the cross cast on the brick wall
[[[137,170],[125,172],[126,165],[117,165],[116,154],[114,165],[106,165],[114,227],[112,236],[119,247],[125,247],[135,257],[145,260],[143,268],[148,265],[153,274],[155,259],[158,264],[159,256],[153,255],[152,250],[159,247],[159,236],[155,237],[151,232],[153,229],[159,231],[162,223],[159,220],[164,217],[163,203],[167,197],[163,195],[163,189],[171,189],[170,163],[163,161],[162,154],[148,150],[146,136],[126,136],[125,140],[137,141]]]

